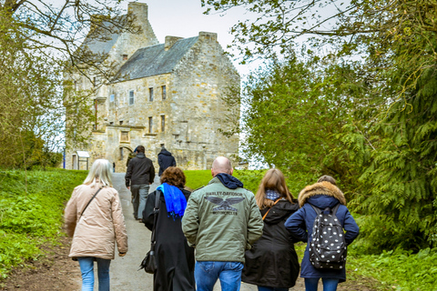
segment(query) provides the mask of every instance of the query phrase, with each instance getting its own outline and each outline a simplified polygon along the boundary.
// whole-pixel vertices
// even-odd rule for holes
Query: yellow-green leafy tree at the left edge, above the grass
[[[64,63],[35,55],[26,42],[28,32],[15,21],[0,23],[0,32],[0,166],[45,166],[47,155],[58,150],[59,135],[74,130],[65,124]],[[83,112],[76,124],[86,124],[85,96],[74,95],[70,100]]]

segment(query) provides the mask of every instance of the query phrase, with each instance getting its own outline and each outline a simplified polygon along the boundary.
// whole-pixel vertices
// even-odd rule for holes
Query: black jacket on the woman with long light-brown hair
[[[256,286],[290,288],[299,276],[298,255],[284,223],[299,209],[298,203],[281,199],[264,219],[261,238],[246,251],[242,281]],[[269,209],[261,210],[264,216]]]

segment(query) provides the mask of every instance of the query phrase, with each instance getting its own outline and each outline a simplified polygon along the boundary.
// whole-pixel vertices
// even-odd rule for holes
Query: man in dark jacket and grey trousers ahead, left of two
[[[127,189],[132,193],[134,217],[140,222],[143,219],[148,188],[155,179],[155,167],[152,161],[146,157],[144,151],[144,146],[137,146],[137,156],[129,161],[125,176]]]

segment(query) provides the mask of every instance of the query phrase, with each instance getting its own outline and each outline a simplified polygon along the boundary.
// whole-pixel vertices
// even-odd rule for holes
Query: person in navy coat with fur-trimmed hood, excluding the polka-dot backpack
[[[335,291],[337,285],[346,281],[346,270],[342,269],[318,269],[311,265],[309,246],[311,242],[312,226],[317,216],[312,206],[320,209],[326,207],[333,208],[340,206],[336,216],[346,234],[344,235],[346,245],[349,246],[359,234],[359,227],[346,207],[346,198],[336,186],[336,181],[331,176],[321,176],[316,184],[306,186],[299,194],[300,209],[295,212],[285,222],[285,227],[291,235],[307,242],[307,247],[302,259],[300,276],[305,279],[305,289],[307,291],[317,291],[320,278],[323,281],[324,291]],[[311,206],[312,205],[312,206]]]

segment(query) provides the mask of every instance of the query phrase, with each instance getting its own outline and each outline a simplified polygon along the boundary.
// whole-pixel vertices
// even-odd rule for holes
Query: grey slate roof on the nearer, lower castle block
[[[168,50],[165,44],[142,47],[121,66],[113,82],[171,73],[197,41],[198,36],[179,39]]]

